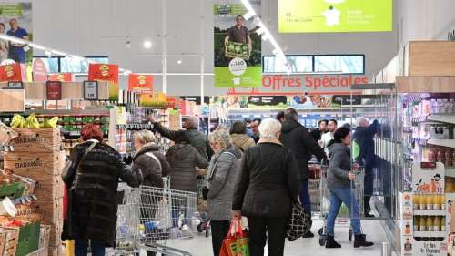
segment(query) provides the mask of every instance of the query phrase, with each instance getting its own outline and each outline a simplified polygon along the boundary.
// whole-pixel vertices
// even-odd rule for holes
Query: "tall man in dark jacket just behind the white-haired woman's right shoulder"
[[[285,111],[285,121],[281,128],[281,143],[289,148],[297,159],[298,170],[300,171],[300,201],[311,218],[311,200],[308,188],[308,161],[312,155],[318,160],[325,159],[324,150],[319,147],[318,142],[309,134],[308,129],[298,123],[298,113],[294,108]],[[314,237],[308,232],[305,237]]]

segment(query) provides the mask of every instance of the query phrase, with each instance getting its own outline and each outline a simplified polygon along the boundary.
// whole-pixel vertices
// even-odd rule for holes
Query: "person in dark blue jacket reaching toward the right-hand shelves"
[[[353,135],[354,143],[356,143],[360,148],[359,157],[357,162],[364,165],[365,167],[365,176],[364,176],[364,214],[365,217],[370,218],[374,217],[369,211],[371,207],[369,206],[369,201],[373,194],[373,182],[374,182],[374,173],[373,169],[376,167],[376,156],[374,152],[374,136],[379,128],[378,120],[374,120],[372,124],[369,125],[369,121],[366,118],[357,118],[356,120],[356,131]],[[356,157],[356,156],[355,156]]]

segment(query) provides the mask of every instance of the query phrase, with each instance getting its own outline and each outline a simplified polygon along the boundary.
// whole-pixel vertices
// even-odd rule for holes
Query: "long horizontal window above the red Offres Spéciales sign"
[[[365,74],[364,55],[286,56],[291,74]],[[264,74],[287,73],[287,67],[277,56],[262,56]]]

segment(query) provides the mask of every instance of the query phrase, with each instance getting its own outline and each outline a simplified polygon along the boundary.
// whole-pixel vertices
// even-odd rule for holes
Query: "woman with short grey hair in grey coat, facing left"
[[[226,128],[215,130],[208,141],[215,155],[208,166],[207,218],[212,229],[213,254],[218,256],[232,219],[232,189],[242,153],[232,146]]]

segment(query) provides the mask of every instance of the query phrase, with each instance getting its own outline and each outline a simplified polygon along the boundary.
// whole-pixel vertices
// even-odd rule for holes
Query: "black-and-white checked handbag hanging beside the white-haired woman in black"
[[[292,213],[288,220],[288,227],[286,230],[286,237],[288,241],[295,241],[308,233],[311,229],[311,221],[303,206],[299,202],[292,203]]]

